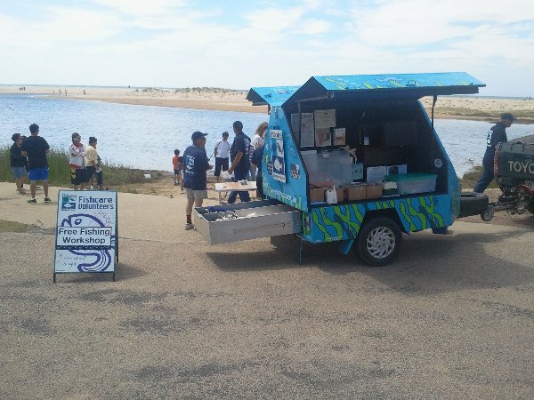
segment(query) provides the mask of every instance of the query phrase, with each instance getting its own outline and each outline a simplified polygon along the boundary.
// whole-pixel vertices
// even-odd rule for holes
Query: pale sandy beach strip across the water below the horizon
[[[61,90],[61,92],[60,92]],[[67,92],[65,92],[67,91]],[[93,86],[26,86],[2,85],[0,94],[40,94],[57,98],[98,100],[121,104],[145,106],[213,109],[266,113],[266,106],[252,106],[246,100],[247,91],[222,88],[127,88]],[[424,98],[423,104],[430,111],[432,98]],[[441,96],[434,108],[436,118],[457,118],[494,121],[504,112],[516,116],[516,123],[534,124],[534,100],[506,98]],[[430,112],[429,112],[430,115]]]

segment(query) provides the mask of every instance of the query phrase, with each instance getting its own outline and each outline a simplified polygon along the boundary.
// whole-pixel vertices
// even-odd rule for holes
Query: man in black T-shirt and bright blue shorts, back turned
[[[46,155],[50,153],[50,146],[39,135],[39,125],[29,125],[31,136],[22,142],[22,156],[28,156],[28,180],[31,198],[29,204],[36,204],[37,180],[43,182],[44,203],[50,203],[48,197],[48,160]]]

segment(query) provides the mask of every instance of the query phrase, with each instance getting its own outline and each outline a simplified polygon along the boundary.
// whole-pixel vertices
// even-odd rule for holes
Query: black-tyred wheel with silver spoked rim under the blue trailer
[[[375,217],[360,229],[354,251],[371,267],[388,265],[395,259],[402,243],[397,223],[387,217]]]

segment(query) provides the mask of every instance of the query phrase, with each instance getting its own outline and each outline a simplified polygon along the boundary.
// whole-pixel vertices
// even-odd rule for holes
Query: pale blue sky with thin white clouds
[[[534,96],[532,0],[2,0],[0,84],[222,87],[465,71]]]

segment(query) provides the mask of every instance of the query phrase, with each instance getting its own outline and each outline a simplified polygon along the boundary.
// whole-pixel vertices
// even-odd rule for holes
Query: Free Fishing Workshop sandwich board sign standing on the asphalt
[[[68,273],[109,273],[115,281],[117,261],[117,192],[60,190],[53,282]]]

